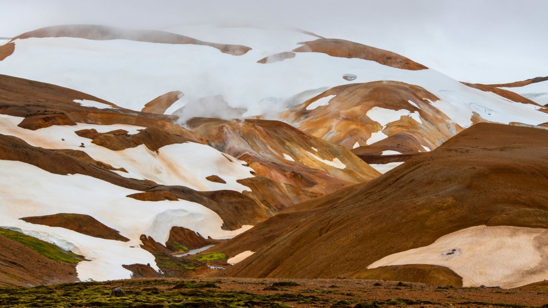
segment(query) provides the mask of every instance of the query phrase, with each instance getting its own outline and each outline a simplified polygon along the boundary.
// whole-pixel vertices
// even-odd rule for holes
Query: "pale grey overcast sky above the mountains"
[[[495,83],[548,76],[547,12],[546,0],[0,0],[0,37],[61,24],[265,20],[388,49],[461,81]]]

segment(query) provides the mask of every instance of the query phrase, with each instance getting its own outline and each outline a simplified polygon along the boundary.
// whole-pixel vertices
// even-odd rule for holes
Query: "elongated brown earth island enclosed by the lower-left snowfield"
[[[59,213],[46,216],[31,216],[21,218],[27,223],[46,225],[50,227],[61,227],[70,229],[85,235],[114,239],[115,241],[127,242],[128,238],[123,237],[118,231],[105,226],[92,216],[84,214]]]

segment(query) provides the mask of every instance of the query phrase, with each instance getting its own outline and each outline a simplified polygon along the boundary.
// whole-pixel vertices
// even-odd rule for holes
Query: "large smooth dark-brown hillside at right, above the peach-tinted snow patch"
[[[543,129],[476,124],[345,195],[318,198],[314,209],[310,201],[297,204],[279,214],[283,220],[275,216],[215,247],[229,255],[256,250],[223,275],[361,278],[360,271],[385,256],[472,226],[548,229],[546,140]],[[275,230],[267,227],[271,220],[279,222]],[[231,247],[261,237],[272,239]],[[516,282],[507,286],[528,283],[522,270],[512,275]]]

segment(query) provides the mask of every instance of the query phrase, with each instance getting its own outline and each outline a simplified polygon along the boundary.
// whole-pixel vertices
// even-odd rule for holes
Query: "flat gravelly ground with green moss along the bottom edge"
[[[329,285],[333,282],[339,286]],[[323,289],[324,287],[327,289]],[[121,291],[116,291],[119,296],[112,295],[112,290],[117,288],[121,288]],[[356,293],[347,292],[349,290]],[[493,290],[453,287],[440,289],[426,284],[381,284],[359,280],[299,280],[299,283],[295,283],[246,278],[215,281],[159,278],[0,288],[0,307],[548,307],[496,301],[489,303],[474,299],[477,296],[487,299],[485,296],[490,296],[488,294],[495,294],[495,297],[490,298],[493,300],[496,300],[496,296],[503,296],[500,295],[501,292],[493,293]],[[450,292],[460,292],[467,297],[450,295]],[[412,296],[412,299],[402,298],[402,294]],[[527,293],[525,297],[524,294],[516,296],[521,299],[529,296],[529,300],[531,296],[544,299],[541,292]]]

